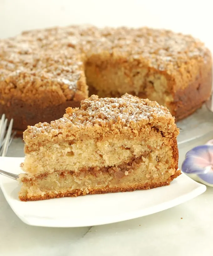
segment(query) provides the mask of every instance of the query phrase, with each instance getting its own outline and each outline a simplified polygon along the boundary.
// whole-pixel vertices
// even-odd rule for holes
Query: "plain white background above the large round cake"
[[[192,34],[213,50],[211,0],[0,0],[0,38],[87,23],[149,26]]]

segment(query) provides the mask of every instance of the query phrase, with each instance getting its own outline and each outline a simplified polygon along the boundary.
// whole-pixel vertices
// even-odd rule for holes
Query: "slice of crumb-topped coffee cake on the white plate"
[[[125,94],[92,95],[59,120],[29,126],[20,200],[156,188],[180,175],[169,110]]]

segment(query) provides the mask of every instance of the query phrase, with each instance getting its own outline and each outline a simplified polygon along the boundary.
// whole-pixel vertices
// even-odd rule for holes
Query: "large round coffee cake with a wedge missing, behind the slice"
[[[96,94],[167,106],[176,119],[210,96],[211,54],[190,35],[150,28],[68,26],[0,40],[0,114],[14,128],[50,122]]]

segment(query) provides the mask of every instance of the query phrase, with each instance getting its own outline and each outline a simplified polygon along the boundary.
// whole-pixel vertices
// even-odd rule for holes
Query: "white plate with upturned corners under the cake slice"
[[[23,158],[0,157],[0,169],[18,174]],[[14,213],[26,224],[47,227],[82,227],[126,221],[166,210],[206,190],[182,174],[169,186],[150,190],[57,198],[34,202],[18,199],[17,181],[0,175],[0,187]]]

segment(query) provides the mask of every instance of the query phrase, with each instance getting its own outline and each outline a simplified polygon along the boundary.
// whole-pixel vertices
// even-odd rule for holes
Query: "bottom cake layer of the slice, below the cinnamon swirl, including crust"
[[[180,175],[167,169],[158,158],[137,157],[118,167],[84,168],[80,172],[55,171],[51,174],[20,175],[20,200],[42,200],[65,196],[133,191],[169,185]]]

